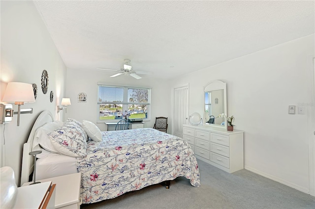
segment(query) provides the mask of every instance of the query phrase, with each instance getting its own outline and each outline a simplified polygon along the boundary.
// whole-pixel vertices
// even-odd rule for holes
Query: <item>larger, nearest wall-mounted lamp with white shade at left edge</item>
[[[14,102],[15,105],[18,105],[18,114],[17,126],[20,125],[20,114],[32,113],[33,109],[22,109],[21,105],[24,105],[25,102],[35,102],[34,92],[32,84],[19,83],[19,82],[10,82],[6,86],[3,98],[3,102]]]

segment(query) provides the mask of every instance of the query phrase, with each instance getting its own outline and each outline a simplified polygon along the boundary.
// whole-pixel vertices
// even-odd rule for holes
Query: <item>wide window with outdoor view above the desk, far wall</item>
[[[150,119],[151,89],[98,85],[98,122]]]

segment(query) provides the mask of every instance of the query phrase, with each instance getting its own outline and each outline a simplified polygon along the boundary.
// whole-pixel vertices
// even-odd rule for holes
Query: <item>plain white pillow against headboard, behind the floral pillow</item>
[[[56,130],[63,125],[62,121],[55,120],[53,122],[48,122],[38,128],[34,134],[33,148],[36,144],[39,144],[43,149],[53,153],[59,153],[57,149],[51,144],[50,137],[47,135],[50,132]]]

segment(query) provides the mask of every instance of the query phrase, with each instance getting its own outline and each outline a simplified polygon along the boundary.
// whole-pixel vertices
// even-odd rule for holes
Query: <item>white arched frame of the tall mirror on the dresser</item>
[[[203,103],[205,103],[205,100],[204,100],[205,92],[209,92],[209,91],[213,91],[213,90],[223,90],[223,94],[224,94],[223,95],[224,96],[224,113],[227,115],[226,83],[224,83],[222,81],[219,81],[219,80],[214,80],[214,81],[211,81],[210,83],[208,83],[203,88],[203,90],[204,90],[204,92],[203,92]],[[223,125],[218,125],[218,124],[206,124],[205,104],[203,104],[203,116],[204,116],[203,125],[227,129],[227,121],[226,121],[226,119],[224,119],[224,121],[225,121],[224,126]]]

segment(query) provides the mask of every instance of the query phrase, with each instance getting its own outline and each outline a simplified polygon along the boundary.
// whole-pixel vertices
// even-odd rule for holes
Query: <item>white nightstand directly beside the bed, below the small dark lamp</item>
[[[55,209],[80,209],[81,173],[69,174],[60,177],[37,180],[39,182],[52,181],[56,184]],[[32,182],[24,183],[23,186]]]

